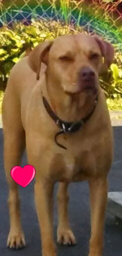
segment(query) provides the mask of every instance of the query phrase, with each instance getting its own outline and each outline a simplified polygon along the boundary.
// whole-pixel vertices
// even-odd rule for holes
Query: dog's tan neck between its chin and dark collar
[[[96,95],[81,92],[66,94],[62,88],[54,88],[51,83],[43,87],[43,96],[47,99],[54,113],[62,120],[76,122],[86,117],[94,108]]]

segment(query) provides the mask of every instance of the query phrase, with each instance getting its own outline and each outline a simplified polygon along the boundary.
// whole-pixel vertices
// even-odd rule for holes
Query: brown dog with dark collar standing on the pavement
[[[21,164],[26,144],[28,163],[36,170],[35,203],[42,255],[57,255],[53,239],[54,183],[60,182],[58,242],[63,239],[68,244],[75,243],[68,221],[68,183],[83,180],[89,182],[91,198],[89,256],[102,255],[113,133],[98,75],[113,58],[112,45],[98,36],[65,35],[39,44],[12,68],[2,107],[9,185],[8,247],[25,245],[18,186],[10,170]]]

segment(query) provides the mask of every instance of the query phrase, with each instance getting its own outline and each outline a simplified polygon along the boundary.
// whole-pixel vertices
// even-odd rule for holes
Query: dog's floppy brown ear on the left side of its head
[[[53,41],[46,40],[37,45],[28,55],[28,65],[36,73],[37,80],[39,80],[41,63],[48,64],[48,54],[52,44]]]

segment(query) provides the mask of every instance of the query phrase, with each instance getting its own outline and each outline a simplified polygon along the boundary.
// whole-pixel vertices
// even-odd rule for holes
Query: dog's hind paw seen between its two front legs
[[[76,239],[71,229],[58,229],[57,243],[64,245],[75,245]]]

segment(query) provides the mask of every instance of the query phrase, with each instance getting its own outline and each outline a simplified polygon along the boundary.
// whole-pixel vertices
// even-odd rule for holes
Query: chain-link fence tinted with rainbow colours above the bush
[[[32,19],[79,25],[121,47],[121,0],[0,0],[0,27],[19,21],[30,25]]]

